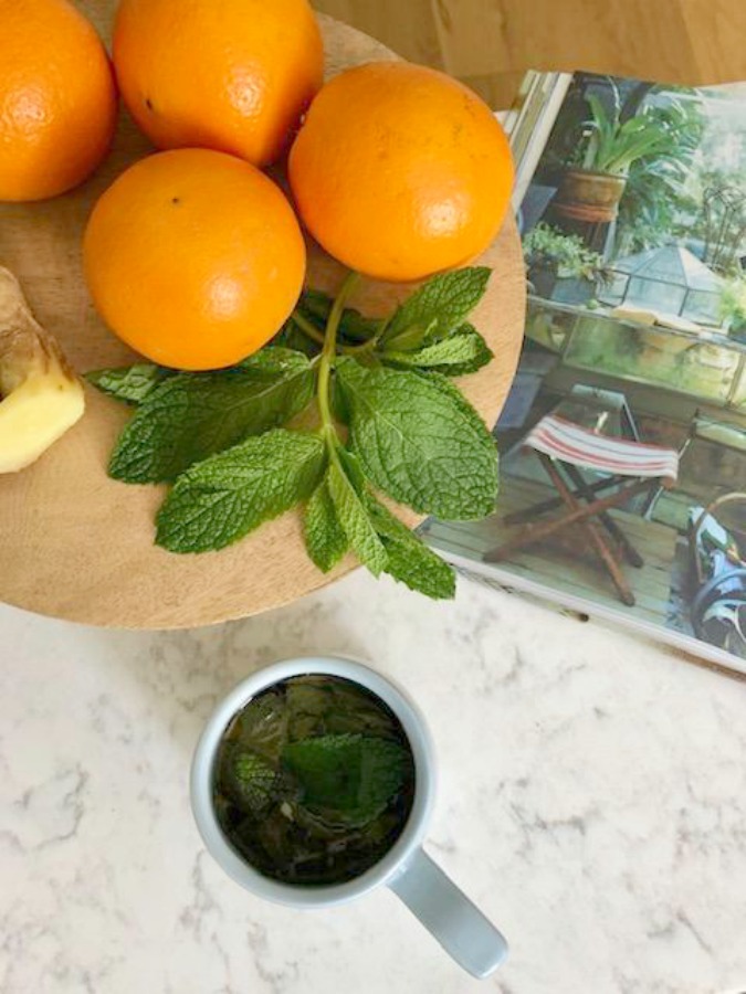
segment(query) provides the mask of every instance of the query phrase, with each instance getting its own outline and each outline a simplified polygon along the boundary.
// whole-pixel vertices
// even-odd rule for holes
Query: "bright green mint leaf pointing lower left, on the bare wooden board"
[[[305,500],[324,468],[317,435],[275,429],[197,463],[176,482],[156,518],[156,543],[207,552],[243,538]]]

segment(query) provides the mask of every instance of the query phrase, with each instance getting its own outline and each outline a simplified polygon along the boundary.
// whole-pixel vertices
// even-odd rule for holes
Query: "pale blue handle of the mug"
[[[472,976],[487,976],[507,955],[503,934],[424,849],[416,849],[388,886]]]

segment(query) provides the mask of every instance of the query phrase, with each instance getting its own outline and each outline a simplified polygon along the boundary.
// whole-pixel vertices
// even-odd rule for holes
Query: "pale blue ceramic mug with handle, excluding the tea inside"
[[[351,680],[385,701],[409,739],[416,774],[412,807],[391,848],[355,879],[318,887],[283,884],[255,870],[223,835],[212,802],[216,757],[233,717],[262,690],[290,677],[306,675]],[[292,908],[328,908],[361,897],[375,887],[389,887],[461,966],[473,976],[484,977],[503,961],[507,944],[497,929],[422,848],[434,790],[432,742],[417,707],[393,684],[368,666],[333,656],[308,656],[276,663],[234,687],[209,719],[191,768],[191,805],[204,845],[225,873],[246,890]]]

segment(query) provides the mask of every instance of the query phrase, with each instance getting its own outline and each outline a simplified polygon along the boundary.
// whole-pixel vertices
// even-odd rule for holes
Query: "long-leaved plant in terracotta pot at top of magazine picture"
[[[584,125],[577,165],[565,171],[555,198],[557,212],[575,221],[613,221],[630,167],[647,156],[675,157],[680,151],[684,112],[672,107],[674,113],[663,115],[648,108],[622,119],[616,89],[613,95],[612,110],[595,94],[586,97],[591,117]]]

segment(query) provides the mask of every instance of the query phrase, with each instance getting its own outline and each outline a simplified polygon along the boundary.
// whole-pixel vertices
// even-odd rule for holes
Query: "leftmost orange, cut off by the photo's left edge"
[[[82,182],[114,134],[114,76],[98,35],[66,0],[0,0],[0,200]]]

